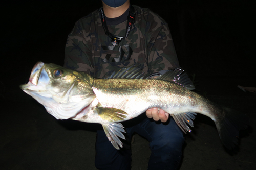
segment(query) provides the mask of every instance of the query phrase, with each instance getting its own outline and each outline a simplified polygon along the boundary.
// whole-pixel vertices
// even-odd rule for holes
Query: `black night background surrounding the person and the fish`
[[[252,0],[134,1],[167,23],[180,66],[211,101],[247,114],[240,145],[227,150],[214,123],[198,115],[186,135],[180,169],[253,169],[256,165],[255,5]],[[19,89],[37,61],[63,65],[75,22],[101,7],[100,0],[2,1],[0,168],[95,169],[97,124],[56,120]],[[148,142],[136,135],[132,169],[146,169]]]

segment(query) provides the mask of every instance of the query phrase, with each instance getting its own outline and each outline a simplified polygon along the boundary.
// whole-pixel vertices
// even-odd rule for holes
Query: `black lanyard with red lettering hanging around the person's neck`
[[[101,22],[102,22],[102,26],[104,28],[105,34],[108,35],[111,38],[112,45],[118,46],[123,38],[126,39],[128,37],[128,35],[129,35],[129,33],[132,29],[132,24],[134,23],[134,20],[135,20],[134,7],[130,6],[130,11],[129,11],[129,15],[128,15],[128,18],[127,18],[128,21],[127,21],[127,27],[126,27],[126,34],[125,34],[124,37],[112,35],[109,32],[109,29],[106,26],[106,20],[105,20],[105,15],[104,15],[103,8],[101,8],[99,11],[100,11],[100,18],[101,18]]]

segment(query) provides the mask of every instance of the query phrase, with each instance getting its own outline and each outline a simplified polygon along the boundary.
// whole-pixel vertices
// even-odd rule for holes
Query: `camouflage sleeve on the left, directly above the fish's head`
[[[84,33],[81,23],[77,21],[66,42],[64,67],[92,75],[92,52],[88,45],[90,40]]]

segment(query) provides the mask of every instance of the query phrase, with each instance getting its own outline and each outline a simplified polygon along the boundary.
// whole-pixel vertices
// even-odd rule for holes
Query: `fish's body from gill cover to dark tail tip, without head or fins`
[[[228,149],[238,144],[239,129],[245,129],[248,123],[248,118],[238,111],[222,107],[198,93],[163,80],[95,80],[93,91],[102,107],[118,108],[127,113],[127,117],[118,122],[134,118],[152,107],[161,108],[174,118],[187,112],[206,115],[214,120],[221,141]],[[80,120],[93,121],[90,117]],[[177,118],[175,120],[178,122]]]

